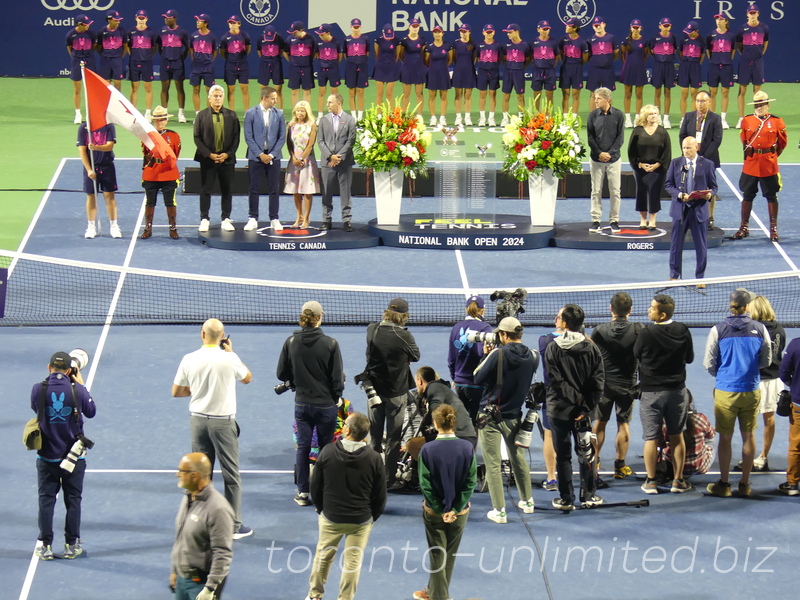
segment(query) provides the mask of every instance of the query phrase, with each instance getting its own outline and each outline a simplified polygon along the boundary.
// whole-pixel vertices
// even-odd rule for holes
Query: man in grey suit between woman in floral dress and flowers
[[[339,180],[339,197],[342,202],[342,222],[345,231],[353,231],[351,219],[350,185],[353,181],[353,143],[356,140],[356,121],[342,109],[342,95],[328,96],[328,114],[319,120],[317,145],[322,168],[322,226],[331,229],[334,177]]]

